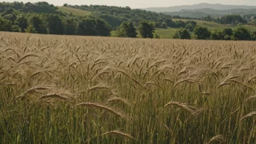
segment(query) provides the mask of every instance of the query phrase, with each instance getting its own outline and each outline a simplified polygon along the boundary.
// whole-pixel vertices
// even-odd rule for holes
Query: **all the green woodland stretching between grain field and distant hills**
[[[184,18],[148,12],[129,7],[108,7],[99,5],[72,6],[92,12],[91,15],[77,16],[57,11],[57,7],[47,2],[0,3],[0,31],[23,33],[65,34],[79,36],[111,36],[116,30],[119,37],[159,38],[156,28],[177,28],[174,39],[216,39],[216,40],[255,40],[256,32],[243,27],[226,28],[211,32],[193,20],[183,22],[172,18]],[[240,15],[225,15],[202,20],[215,23],[241,25],[247,23]],[[227,31],[229,31],[227,33]]]

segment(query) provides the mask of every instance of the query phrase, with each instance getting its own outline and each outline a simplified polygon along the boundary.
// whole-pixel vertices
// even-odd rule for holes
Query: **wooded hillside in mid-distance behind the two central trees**
[[[75,9],[87,10],[92,12],[92,15],[100,17],[108,22],[113,29],[116,29],[123,22],[132,21],[135,26],[138,26],[140,21],[147,20],[160,23],[156,25],[164,25],[168,19],[172,19],[170,15],[164,15],[157,12],[148,12],[142,9],[131,9],[130,7],[111,7],[102,5],[68,5],[64,4],[64,7],[72,7]]]

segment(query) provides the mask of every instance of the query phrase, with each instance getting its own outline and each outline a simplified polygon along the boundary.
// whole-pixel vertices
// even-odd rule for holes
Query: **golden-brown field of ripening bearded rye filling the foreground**
[[[255,143],[256,43],[0,32],[0,143]]]

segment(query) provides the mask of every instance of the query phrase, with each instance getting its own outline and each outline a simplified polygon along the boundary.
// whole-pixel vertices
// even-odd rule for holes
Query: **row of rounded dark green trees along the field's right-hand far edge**
[[[194,39],[213,39],[213,40],[256,40],[256,31],[250,32],[247,28],[237,27],[225,28],[223,31],[215,30],[213,33],[208,28],[196,26],[193,30]],[[186,28],[175,31],[174,39],[191,39],[191,33]]]

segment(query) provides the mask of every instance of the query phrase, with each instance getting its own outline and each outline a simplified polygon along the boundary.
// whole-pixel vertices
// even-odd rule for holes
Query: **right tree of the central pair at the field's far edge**
[[[155,33],[155,25],[148,21],[141,21],[138,28],[140,35],[143,38],[153,39],[153,33]]]

